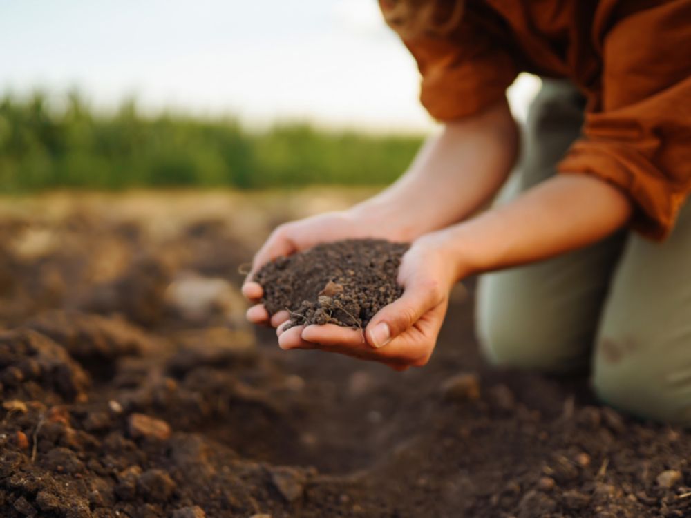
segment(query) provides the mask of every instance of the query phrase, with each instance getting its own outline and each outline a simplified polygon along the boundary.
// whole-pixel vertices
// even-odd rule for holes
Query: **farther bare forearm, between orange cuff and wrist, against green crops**
[[[505,102],[448,123],[405,175],[353,213],[388,225],[399,240],[447,227],[491,199],[511,171],[517,148],[518,132]]]

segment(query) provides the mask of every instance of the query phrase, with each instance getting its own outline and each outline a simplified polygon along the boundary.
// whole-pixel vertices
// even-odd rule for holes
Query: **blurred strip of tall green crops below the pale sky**
[[[422,142],[306,124],[247,131],[228,117],[151,117],[133,102],[104,114],[79,95],[61,108],[48,99],[0,99],[0,191],[381,185],[406,169]]]

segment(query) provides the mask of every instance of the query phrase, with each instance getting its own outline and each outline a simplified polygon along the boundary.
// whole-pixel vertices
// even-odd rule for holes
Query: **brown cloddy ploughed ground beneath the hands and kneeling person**
[[[0,516],[691,516],[691,434],[487,367],[473,280],[422,369],[281,351],[243,323],[247,211],[129,196],[0,218]]]

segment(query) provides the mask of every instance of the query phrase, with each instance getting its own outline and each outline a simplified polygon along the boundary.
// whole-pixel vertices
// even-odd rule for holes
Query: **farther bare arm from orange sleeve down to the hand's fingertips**
[[[332,212],[277,227],[256,253],[243,294],[258,303],[263,290],[252,275],[278,256],[319,242],[346,238],[412,241],[456,223],[487,202],[506,180],[518,148],[518,132],[505,100],[486,111],[449,122],[430,138],[408,171],[385,191],[347,211]],[[261,304],[247,312],[254,323],[268,323]],[[279,325],[285,311],[271,317]]]

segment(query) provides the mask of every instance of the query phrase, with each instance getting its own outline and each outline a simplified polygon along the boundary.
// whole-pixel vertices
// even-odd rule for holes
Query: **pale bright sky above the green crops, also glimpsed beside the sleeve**
[[[537,84],[511,90],[519,117]],[[376,0],[0,0],[0,90],[75,86],[103,108],[432,127]]]

